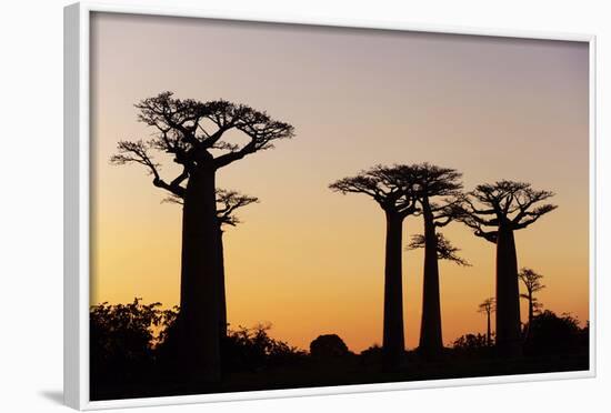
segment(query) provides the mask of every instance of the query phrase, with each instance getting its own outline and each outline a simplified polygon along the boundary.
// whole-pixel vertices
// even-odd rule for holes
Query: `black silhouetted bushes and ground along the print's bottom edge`
[[[535,319],[531,345],[541,354],[505,360],[485,345],[483,334],[467,334],[434,361],[405,352],[405,366],[383,367],[382,349],[372,345],[358,355],[335,334],[312,342],[308,354],[269,335],[270,325],[229,330],[222,342],[223,372],[219,383],[184,380],[176,363],[179,309],[159,303],[91,308],[91,399],[110,400],[206,394],[273,389],[385,383],[453,377],[493,376],[588,369],[588,325],[579,329],[568,315],[545,312]],[[533,323],[534,328],[534,323]],[[554,343],[570,342],[560,350]],[[547,347],[551,352],[543,351]],[[322,349],[322,350],[321,350]],[[330,350],[331,349],[331,350]],[[555,349],[555,350],[553,350]],[[320,354],[344,356],[321,359]]]

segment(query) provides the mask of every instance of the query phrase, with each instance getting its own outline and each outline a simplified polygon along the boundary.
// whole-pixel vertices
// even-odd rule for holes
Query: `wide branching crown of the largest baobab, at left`
[[[183,197],[182,182],[198,168],[212,170],[226,167],[250,153],[273,148],[279,139],[292,138],[293,127],[271,119],[266,112],[246,104],[226,100],[200,102],[177,99],[172,92],[163,92],[136,104],[138,120],[156,129],[148,141],[119,141],[113,164],[138,163],[153,175],[153,185]],[[247,137],[239,144],[227,139],[227,132],[236,130]],[[171,181],[160,175],[160,164],[151,150],[166,152],[173,162],[182,165],[182,172]]]

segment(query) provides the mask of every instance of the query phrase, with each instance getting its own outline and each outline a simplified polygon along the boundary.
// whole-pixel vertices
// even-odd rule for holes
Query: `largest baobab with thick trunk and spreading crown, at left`
[[[219,225],[217,171],[291,138],[293,127],[266,112],[224,100],[201,102],[163,92],[136,104],[138,120],[151,127],[148,141],[120,141],[114,164],[137,163],[152,184],[183,200],[179,342],[181,367],[193,379],[220,377]],[[238,132],[246,143],[232,141]],[[171,181],[160,174],[151,151],[164,152],[181,171]]]

